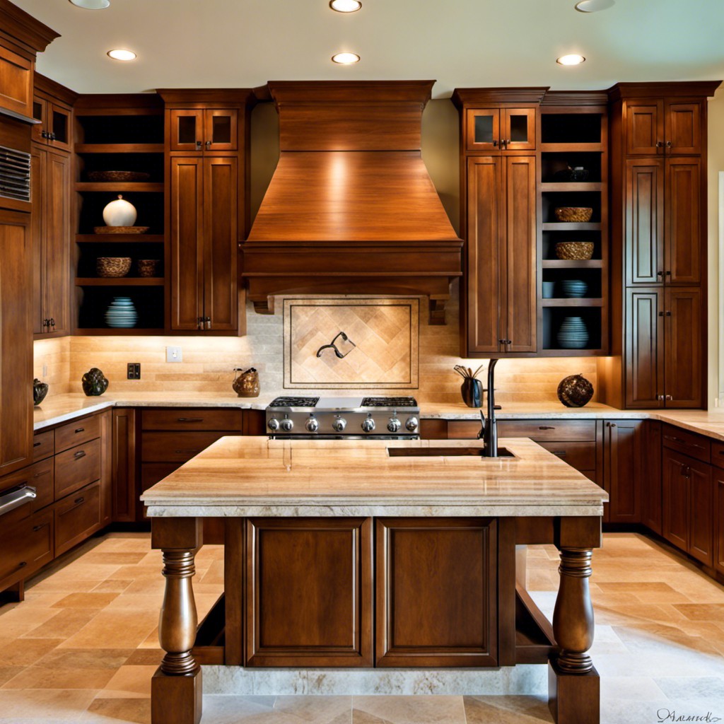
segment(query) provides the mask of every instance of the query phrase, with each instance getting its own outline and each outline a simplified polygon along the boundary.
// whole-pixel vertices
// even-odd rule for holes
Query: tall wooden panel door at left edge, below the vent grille
[[[33,460],[30,214],[0,211],[0,475]]]

